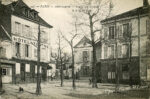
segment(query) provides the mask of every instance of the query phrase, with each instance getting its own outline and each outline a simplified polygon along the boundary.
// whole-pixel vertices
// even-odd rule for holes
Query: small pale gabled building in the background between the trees
[[[92,45],[85,36],[74,46],[74,61],[75,72],[79,72],[80,77],[91,77]]]

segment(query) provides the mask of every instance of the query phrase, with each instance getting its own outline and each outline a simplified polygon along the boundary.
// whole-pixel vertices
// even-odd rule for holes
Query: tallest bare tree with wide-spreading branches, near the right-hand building
[[[78,3],[77,0],[75,0]],[[79,4],[79,3],[78,3]],[[97,78],[96,78],[96,48],[95,48],[95,35],[97,32],[102,30],[99,22],[100,20],[110,16],[112,10],[111,1],[103,0],[83,0],[79,6],[79,13],[76,16],[79,18],[78,26],[83,26],[86,29],[86,32],[90,34],[92,48],[93,48],[93,62],[92,62],[92,87],[97,87]],[[87,31],[89,30],[89,31]]]

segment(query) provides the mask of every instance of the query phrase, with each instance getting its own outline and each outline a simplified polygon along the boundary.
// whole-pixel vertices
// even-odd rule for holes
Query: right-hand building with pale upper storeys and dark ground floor
[[[150,80],[149,4],[101,21],[103,32],[97,44],[97,66],[102,82]],[[117,64],[117,65],[116,65]],[[117,73],[118,72],[118,73]]]

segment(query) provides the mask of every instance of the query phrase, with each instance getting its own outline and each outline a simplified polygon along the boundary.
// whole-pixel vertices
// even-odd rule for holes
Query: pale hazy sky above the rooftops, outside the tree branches
[[[50,25],[51,29],[51,45],[56,47],[57,31],[62,30],[64,35],[68,35],[70,31],[70,23],[72,17],[70,11],[72,8],[62,8],[72,4],[72,0],[23,0],[29,7],[37,10],[39,15]],[[150,1],[150,0],[149,0]],[[114,8],[113,15],[117,15],[131,9],[142,6],[143,0],[112,0]],[[76,39],[75,44],[80,40]]]

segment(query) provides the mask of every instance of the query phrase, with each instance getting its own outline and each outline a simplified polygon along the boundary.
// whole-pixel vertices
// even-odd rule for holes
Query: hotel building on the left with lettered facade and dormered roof
[[[47,78],[50,61],[50,29],[34,9],[22,0],[0,2],[0,63],[3,83],[34,82],[37,77],[37,36],[41,32],[40,74]]]

